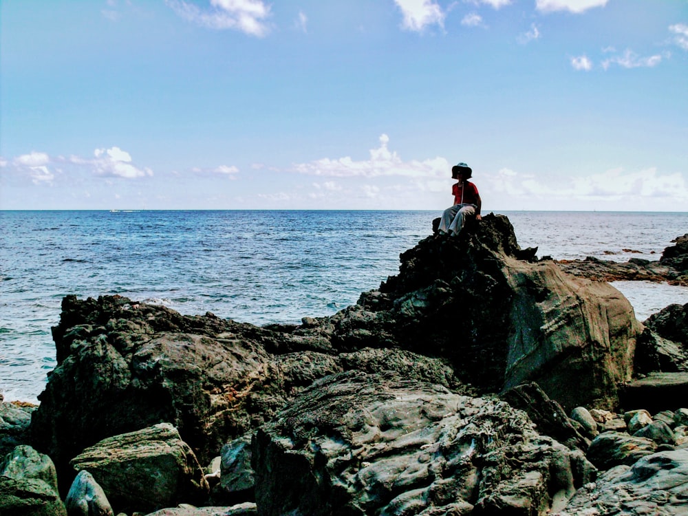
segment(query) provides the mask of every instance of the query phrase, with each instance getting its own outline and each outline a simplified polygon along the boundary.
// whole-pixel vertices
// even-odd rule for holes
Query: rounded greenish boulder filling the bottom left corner
[[[0,462],[0,515],[67,516],[47,455],[18,446]]]

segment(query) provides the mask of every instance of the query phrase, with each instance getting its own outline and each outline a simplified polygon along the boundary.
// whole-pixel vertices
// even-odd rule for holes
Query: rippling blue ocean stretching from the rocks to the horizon
[[[495,212],[539,257],[659,259],[688,213]],[[438,211],[0,211],[0,392],[38,402],[67,294],[121,294],[182,314],[299,323],[396,275]],[[639,320],[688,288],[613,283]]]

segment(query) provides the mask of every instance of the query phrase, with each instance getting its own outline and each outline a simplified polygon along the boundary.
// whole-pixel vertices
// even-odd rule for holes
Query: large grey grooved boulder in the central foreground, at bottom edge
[[[523,411],[395,374],[317,380],[253,453],[264,515],[537,515],[574,487],[572,452]]]

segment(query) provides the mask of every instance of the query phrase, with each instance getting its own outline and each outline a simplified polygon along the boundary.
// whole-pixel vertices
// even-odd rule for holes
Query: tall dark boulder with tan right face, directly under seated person
[[[323,334],[343,349],[396,345],[447,358],[482,391],[535,381],[565,409],[613,408],[642,331],[632,306],[608,283],[522,256],[502,215],[456,238],[427,237],[378,291],[323,319]]]

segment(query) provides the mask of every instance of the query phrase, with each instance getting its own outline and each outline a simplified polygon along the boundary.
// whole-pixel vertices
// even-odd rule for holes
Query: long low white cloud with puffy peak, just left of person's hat
[[[322,158],[308,163],[294,164],[292,170],[309,175],[331,178],[376,178],[404,176],[409,178],[438,178],[447,175],[451,165],[444,158],[404,162],[396,151],[389,151],[389,136],[380,135],[380,147],[370,149],[370,159],[355,161],[345,158]]]

